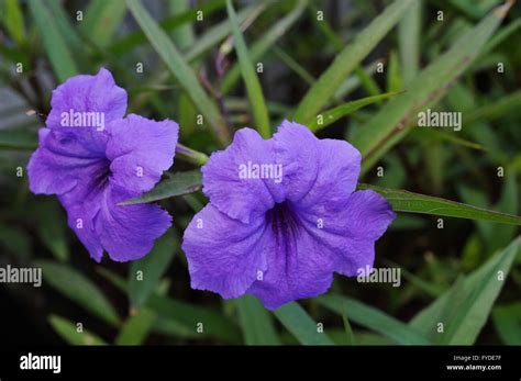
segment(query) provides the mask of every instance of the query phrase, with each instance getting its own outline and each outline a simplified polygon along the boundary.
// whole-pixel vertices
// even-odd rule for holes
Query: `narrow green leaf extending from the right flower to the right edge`
[[[412,193],[406,190],[392,190],[368,184],[358,184],[358,189],[372,189],[389,201],[395,212],[423,213],[440,216],[480,220],[501,224],[521,225],[521,217],[459,202],[444,200],[432,195]]]

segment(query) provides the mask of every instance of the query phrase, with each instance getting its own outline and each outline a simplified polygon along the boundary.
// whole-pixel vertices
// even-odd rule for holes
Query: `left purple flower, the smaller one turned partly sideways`
[[[31,191],[58,195],[95,260],[103,249],[117,261],[143,257],[171,217],[156,204],[117,204],[152,189],[171,166],[177,123],[123,117],[126,92],[106,69],[69,78],[51,105],[27,167]]]

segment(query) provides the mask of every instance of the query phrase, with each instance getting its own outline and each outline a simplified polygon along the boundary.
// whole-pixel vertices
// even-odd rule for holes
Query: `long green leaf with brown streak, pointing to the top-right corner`
[[[459,37],[451,49],[411,81],[403,96],[388,102],[359,130],[352,143],[364,158],[363,173],[407,135],[411,130],[411,120],[419,111],[431,107],[446,93],[451,85],[476,58],[507,11],[508,7],[495,10]]]

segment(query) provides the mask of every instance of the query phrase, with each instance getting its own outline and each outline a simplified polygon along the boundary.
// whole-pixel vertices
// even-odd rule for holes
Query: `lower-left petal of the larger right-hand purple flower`
[[[185,231],[191,287],[225,299],[242,295],[266,269],[265,229],[264,218],[243,224],[208,204]]]

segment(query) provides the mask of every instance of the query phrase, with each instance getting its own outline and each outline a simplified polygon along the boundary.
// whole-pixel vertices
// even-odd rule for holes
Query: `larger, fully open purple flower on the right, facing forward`
[[[243,128],[202,168],[209,204],[185,232],[191,287],[253,294],[270,310],[317,296],[333,272],[373,268],[395,218],[378,193],[355,191],[361,155],[285,121],[264,141]]]

